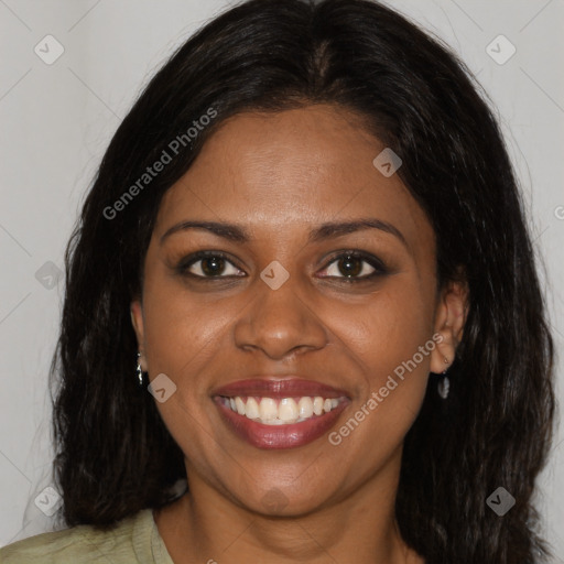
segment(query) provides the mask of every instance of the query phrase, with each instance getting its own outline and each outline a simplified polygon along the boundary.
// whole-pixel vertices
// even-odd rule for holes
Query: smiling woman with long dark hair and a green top
[[[245,2],[104,156],[53,364],[69,529],[2,562],[544,562],[552,357],[464,65],[376,2]]]

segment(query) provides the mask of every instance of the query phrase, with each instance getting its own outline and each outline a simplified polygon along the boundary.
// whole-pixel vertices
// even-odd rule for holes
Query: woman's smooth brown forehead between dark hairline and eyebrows
[[[431,225],[399,176],[373,165],[383,149],[359,116],[334,106],[236,115],[166,192],[155,235],[204,219],[291,238],[321,223],[371,216],[392,223],[410,246],[431,243]]]

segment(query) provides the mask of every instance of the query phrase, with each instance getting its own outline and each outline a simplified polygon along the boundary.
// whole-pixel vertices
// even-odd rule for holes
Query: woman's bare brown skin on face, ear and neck
[[[185,454],[191,491],[154,512],[175,563],[424,562],[394,519],[403,440],[429,372],[454,358],[467,292],[456,283],[437,291],[432,226],[399,176],[375,167],[384,145],[361,124],[327,105],[237,115],[162,200],[131,313],[142,368],[176,386],[156,405]],[[366,217],[392,224],[405,242],[379,229],[307,241],[319,224]],[[187,229],[161,242],[184,220],[235,223],[250,240]],[[175,270],[199,250],[227,253],[218,275],[230,278]],[[341,250],[377,257],[388,272],[347,283]],[[290,274],[275,291],[260,278],[273,260]],[[205,276],[204,265],[188,272]],[[362,259],[354,267],[357,278],[373,271]],[[212,400],[235,380],[296,375],[347,391],[338,430],[433,334],[442,343],[338,446],[323,436],[256,448]],[[278,507],[265,503],[273,496]]]

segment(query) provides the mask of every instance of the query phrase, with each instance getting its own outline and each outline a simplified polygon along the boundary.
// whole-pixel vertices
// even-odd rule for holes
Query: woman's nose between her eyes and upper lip
[[[296,292],[293,278],[278,290],[261,280],[245,316],[235,325],[236,345],[243,350],[260,350],[271,359],[283,359],[295,352],[317,350],[327,341],[327,332]]]

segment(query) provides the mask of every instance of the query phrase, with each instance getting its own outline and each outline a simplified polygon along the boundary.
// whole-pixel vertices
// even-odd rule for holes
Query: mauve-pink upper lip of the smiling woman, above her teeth
[[[314,380],[304,380],[302,378],[275,379],[274,377],[261,377],[247,380],[237,380],[235,382],[216,388],[212,395],[226,395],[235,398],[236,395],[259,395],[262,398],[291,398],[291,397],[316,397],[322,398],[341,398],[348,397],[347,392],[338,388],[333,388],[325,383]]]

